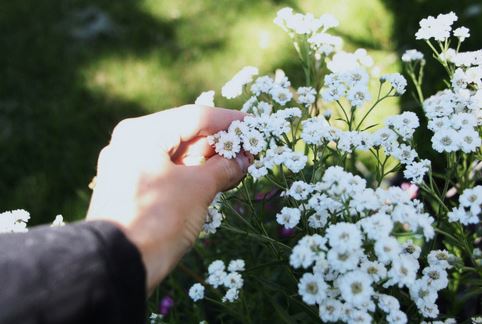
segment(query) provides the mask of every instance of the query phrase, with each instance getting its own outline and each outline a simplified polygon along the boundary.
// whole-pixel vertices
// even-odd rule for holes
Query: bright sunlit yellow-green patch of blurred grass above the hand
[[[241,100],[228,102],[220,98],[222,85],[246,65],[257,66],[262,73],[273,73],[282,62],[296,61],[289,37],[273,24],[280,7],[242,2],[227,4],[206,1],[154,1],[139,4],[147,14],[164,21],[176,21],[175,37],[178,54],[169,47],[151,50],[142,56],[120,54],[102,57],[82,72],[87,88],[156,111],[192,102],[205,90],[217,93],[217,103],[230,107]],[[381,71],[395,71],[396,60],[387,61],[391,50],[390,14],[378,0],[300,1],[299,6],[316,14],[331,12],[340,20],[341,35],[349,35],[347,50],[373,46]],[[243,14],[237,11],[243,10]],[[217,16],[223,15],[223,19]],[[388,19],[387,19],[388,18]],[[375,119],[397,111],[396,104],[376,112]],[[372,117],[373,119],[373,117]]]

